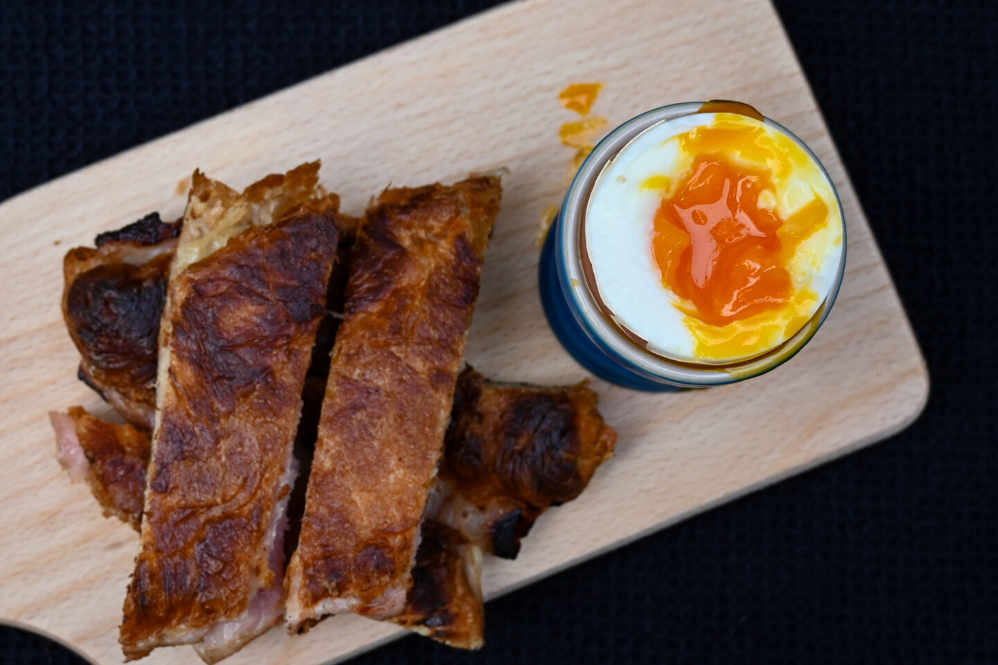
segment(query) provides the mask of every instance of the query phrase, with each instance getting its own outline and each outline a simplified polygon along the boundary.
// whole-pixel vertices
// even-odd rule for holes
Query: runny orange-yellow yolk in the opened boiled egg
[[[792,336],[816,304],[787,269],[801,241],[827,223],[820,196],[781,219],[773,176],[791,174],[790,147],[762,128],[700,128],[680,138],[693,163],[686,179],[643,183],[670,190],[654,222],[652,251],[663,284],[683,299],[697,355],[726,359]],[[652,180],[655,180],[654,182]]]

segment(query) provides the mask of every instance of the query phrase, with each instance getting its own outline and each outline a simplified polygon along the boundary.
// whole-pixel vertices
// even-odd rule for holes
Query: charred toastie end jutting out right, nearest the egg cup
[[[438,518],[486,551],[515,558],[551,505],[575,499],[613,455],[617,433],[584,384],[493,384],[465,368],[447,429]]]

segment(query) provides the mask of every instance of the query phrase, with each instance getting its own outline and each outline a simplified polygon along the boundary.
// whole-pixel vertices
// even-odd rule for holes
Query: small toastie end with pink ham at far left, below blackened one
[[[72,407],[68,414],[53,414],[52,423],[59,439],[60,461],[69,469],[65,458],[82,453],[84,459],[80,462],[87,468],[80,470],[81,475],[104,514],[114,515],[138,530],[149,464],[149,433],[95,418],[82,407]],[[60,431],[63,424],[72,431]],[[69,471],[76,476],[75,470]]]

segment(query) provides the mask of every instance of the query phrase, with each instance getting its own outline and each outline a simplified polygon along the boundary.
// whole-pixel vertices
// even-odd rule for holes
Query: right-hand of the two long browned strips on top
[[[367,212],[287,571],[292,630],[402,608],[500,194],[497,177],[388,189]]]

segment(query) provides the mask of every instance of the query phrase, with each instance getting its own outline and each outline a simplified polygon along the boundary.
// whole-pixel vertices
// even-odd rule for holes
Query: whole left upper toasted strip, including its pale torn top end
[[[196,171],[160,327],[127,659],[215,662],[282,614],[292,445],[336,252],[318,164],[238,192]]]

